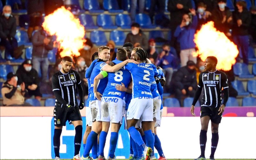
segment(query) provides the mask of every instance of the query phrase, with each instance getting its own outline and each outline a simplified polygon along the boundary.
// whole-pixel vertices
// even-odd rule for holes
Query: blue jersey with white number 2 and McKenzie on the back
[[[155,81],[154,76],[158,76],[159,72],[156,66],[140,63],[128,63],[124,66],[132,74],[132,98],[152,97],[151,83]]]

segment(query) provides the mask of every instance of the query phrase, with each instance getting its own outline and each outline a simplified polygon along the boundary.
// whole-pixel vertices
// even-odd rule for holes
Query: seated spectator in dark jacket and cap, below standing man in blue
[[[189,60],[187,65],[181,67],[172,78],[173,91],[175,97],[183,106],[182,96],[194,97],[197,88],[196,82],[196,64]]]

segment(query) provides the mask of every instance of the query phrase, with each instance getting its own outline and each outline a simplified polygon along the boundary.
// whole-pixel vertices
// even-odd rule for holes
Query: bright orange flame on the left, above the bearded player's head
[[[84,47],[84,26],[78,18],[65,9],[58,8],[52,14],[44,18],[43,28],[51,36],[56,35],[59,50],[62,50],[60,57],[79,56],[79,50]]]

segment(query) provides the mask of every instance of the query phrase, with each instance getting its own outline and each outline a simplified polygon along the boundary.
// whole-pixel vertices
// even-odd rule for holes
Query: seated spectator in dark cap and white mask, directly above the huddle
[[[128,33],[124,42],[131,42],[134,47],[141,47],[144,50],[148,49],[148,38],[140,29],[139,23],[132,23],[132,33]]]

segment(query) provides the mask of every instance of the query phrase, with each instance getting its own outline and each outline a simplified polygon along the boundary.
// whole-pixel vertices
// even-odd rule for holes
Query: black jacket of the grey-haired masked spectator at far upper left
[[[16,34],[16,19],[11,15],[6,19],[4,15],[0,17],[0,37],[3,39],[13,38]]]

